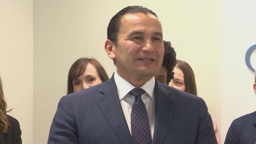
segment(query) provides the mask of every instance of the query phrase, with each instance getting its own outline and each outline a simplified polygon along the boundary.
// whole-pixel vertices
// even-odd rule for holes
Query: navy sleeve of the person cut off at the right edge
[[[227,131],[224,144],[238,144],[238,131],[235,122],[233,121]]]

